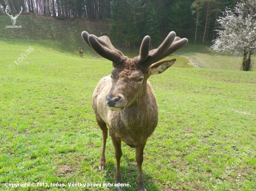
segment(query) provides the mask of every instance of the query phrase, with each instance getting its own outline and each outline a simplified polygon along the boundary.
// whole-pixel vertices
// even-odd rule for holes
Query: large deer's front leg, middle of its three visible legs
[[[115,171],[115,183],[122,183],[121,171],[120,171],[120,159],[122,156],[121,150],[121,139],[115,136],[115,133],[112,133],[109,130],[109,134],[112,140],[112,143],[115,147],[115,159],[116,159],[116,171]],[[116,186],[117,190],[121,190],[122,186]]]

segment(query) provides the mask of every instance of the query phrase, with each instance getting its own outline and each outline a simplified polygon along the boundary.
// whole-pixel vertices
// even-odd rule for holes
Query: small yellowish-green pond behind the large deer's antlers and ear
[[[139,53],[136,52],[123,52],[123,54],[125,56],[127,56],[130,59],[133,59],[134,57],[138,56]],[[185,57],[181,57],[181,56],[176,56],[176,55],[171,55],[168,57],[163,58],[161,61],[163,60],[171,60],[176,58],[176,62],[171,66],[171,67],[177,67],[177,68],[195,68],[195,66],[190,65],[189,64],[189,59],[185,58]],[[107,60],[106,58],[101,57],[100,55],[98,55],[97,57],[95,57],[95,59],[98,60]]]

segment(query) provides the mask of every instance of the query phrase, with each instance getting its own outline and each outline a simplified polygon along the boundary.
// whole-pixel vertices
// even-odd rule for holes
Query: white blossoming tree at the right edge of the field
[[[251,69],[251,55],[256,55],[256,0],[242,0],[234,11],[225,9],[224,17],[217,19],[219,35],[212,49],[243,55],[243,71]]]

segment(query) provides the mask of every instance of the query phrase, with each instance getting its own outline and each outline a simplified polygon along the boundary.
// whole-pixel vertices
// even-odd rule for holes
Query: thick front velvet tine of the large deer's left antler
[[[100,38],[97,38],[92,34],[88,36],[88,41],[90,43],[90,46],[92,47],[92,49],[94,49],[95,52],[101,55],[101,57],[105,57],[108,60],[111,60],[113,62],[113,67],[115,67],[116,65],[120,64],[122,61],[127,59],[127,57],[125,57],[121,51],[118,51],[116,49],[115,50],[108,49],[110,45],[108,45],[108,47],[104,47],[103,45],[104,44],[106,45],[106,42],[102,42],[103,40],[101,40]]]

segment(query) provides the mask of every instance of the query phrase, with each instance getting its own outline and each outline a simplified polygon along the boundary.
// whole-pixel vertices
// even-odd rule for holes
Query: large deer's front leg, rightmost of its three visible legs
[[[136,179],[136,185],[138,186],[139,191],[147,191],[145,186],[143,185],[142,181],[142,162],[143,162],[143,150],[144,146],[146,145],[145,143],[141,144],[140,146],[136,147],[136,162],[137,162],[137,179]]]

